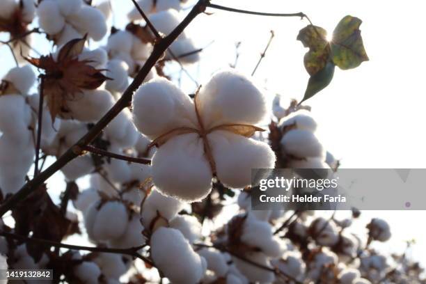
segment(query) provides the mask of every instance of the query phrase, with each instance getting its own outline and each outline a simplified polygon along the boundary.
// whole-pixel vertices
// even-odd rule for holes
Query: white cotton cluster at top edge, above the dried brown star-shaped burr
[[[56,45],[88,35],[102,40],[107,34],[107,15],[83,0],[44,0],[37,7],[40,27]]]

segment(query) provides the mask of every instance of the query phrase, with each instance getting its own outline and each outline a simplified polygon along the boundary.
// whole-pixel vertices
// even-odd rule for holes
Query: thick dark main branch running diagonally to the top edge
[[[36,189],[40,184],[45,182],[48,178],[50,178],[54,173],[59,171],[63,166],[68,164],[68,162],[72,161],[72,159],[81,155],[84,151],[84,146],[88,145],[92,142],[102,130],[107,127],[107,125],[115,118],[118,113],[123,111],[126,107],[132,103],[133,93],[136,91],[139,86],[141,86],[143,80],[149,74],[152,67],[154,67],[155,63],[161,58],[168,49],[168,47],[173,43],[173,41],[178,38],[180,33],[184,31],[184,29],[198,16],[200,13],[205,11],[207,4],[210,0],[198,0],[196,5],[191,9],[187,17],[183,19],[183,21],[166,37],[161,38],[155,45],[152,50],[152,54],[147,59],[141,70],[139,70],[138,74],[132,81],[120,99],[114,104],[114,106],[105,114],[92,129],[86,135],[84,135],[77,143],[75,143],[70,149],[68,149],[61,157],[56,159],[54,164],[46,168],[45,171],[40,173],[37,177],[33,178],[33,180],[27,182],[22,189],[19,189],[16,194],[8,198],[8,200],[3,203],[0,207],[0,216],[3,216],[8,210],[10,210],[14,205],[16,205],[19,200],[26,198],[33,189]]]

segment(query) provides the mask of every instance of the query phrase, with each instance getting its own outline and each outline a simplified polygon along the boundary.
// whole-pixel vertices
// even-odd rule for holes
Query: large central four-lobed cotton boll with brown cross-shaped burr
[[[152,178],[161,193],[202,200],[214,176],[241,189],[251,184],[252,168],[274,167],[269,145],[250,138],[262,130],[254,125],[266,113],[265,97],[251,81],[220,72],[194,102],[164,78],[143,84],[134,95],[134,124],[158,147]]]

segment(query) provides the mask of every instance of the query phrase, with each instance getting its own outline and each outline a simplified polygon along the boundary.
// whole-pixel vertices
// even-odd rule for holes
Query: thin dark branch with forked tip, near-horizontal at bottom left
[[[73,244],[63,244],[63,243],[60,243],[60,242],[49,241],[47,239],[37,239],[37,238],[34,238],[34,237],[26,237],[26,236],[22,236],[22,235],[17,235],[17,234],[14,234],[13,232],[0,231],[0,235],[3,236],[3,237],[10,238],[10,239],[17,239],[17,240],[23,241],[23,242],[33,242],[33,243],[37,243],[37,244],[45,244],[45,245],[48,245],[48,246],[53,246],[55,248],[69,248],[69,249],[73,249],[73,250],[76,250],[76,251],[92,251],[92,252],[95,252],[95,253],[118,253],[118,254],[123,254],[123,255],[130,255],[130,256],[133,256],[134,258],[140,258],[141,260],[143,260],[148,265],[151,265],[152,267],[154,267],[154,263],[152,263],[151,260],[149,260],[145,256],[141,255],[141,253],[138,253],[139,249],[143,248],[145,245],[136,246],[136,247],[133,247],[133,248],[102,248],[102,247],[97,247],[97,246],[75,246]]]

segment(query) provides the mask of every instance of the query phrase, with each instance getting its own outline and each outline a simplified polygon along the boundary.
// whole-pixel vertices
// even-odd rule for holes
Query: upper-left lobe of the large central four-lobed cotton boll
[[[150,139],[176,127],[198,125],[189,96],[164,78],[153,79],[136,90],[133,114],[136,127]]]

